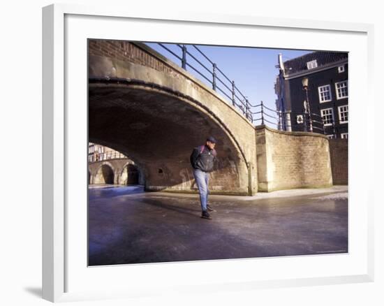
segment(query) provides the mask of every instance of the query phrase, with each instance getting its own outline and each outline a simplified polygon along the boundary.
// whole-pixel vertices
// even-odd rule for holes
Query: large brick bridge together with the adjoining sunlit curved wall
[[[252,195],[332,184],[325,136],[263,129],[256,132],[219,94],[147,45],[89,40],[89,141],[135,161],[147,191],[195,190],[189,156],[207,136],[218,140],[212,193]],[[271,133],[279,134],[273,138],[277,143],[267,143]],[[297,139],[300,147],[290,152],[286,138]],[[279,156],[279,146],[285,156]],[[297,156],[301,150],[306,153]],[[305,173],[304,159],[316,170]],[[284,161],[284,171],[295,168],[288,182],[283,182],[287,173],[276,170]]]

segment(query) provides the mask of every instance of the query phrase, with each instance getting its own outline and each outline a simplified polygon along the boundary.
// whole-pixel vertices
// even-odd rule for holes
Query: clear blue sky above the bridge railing
[[[160,45],[156,43],[147,43],[147,45],[181,66],[180,60],[163,49]],[[181,57],[182,52],[179,47],[170,44],[165,45]],[[209,64],[209,61],[204,59],[204,57],[202,57],[202,55],[191,45],[187,45],[187,48],[199,61],[202,61],[202,64],[205,64],[208,68],[212,67],[212,64]],[[272,109],[275,109],[274,103],[276,100],[274,82],[276,81],[276,75],[279,73],[278,68],[275,67],[277,65],[278,54],[283,54],[283,61],[286,61],[311,52],[308,50],[240,48],[208,45],[198,45],[198,48],[204,52],[209,59],[216,63],[230,80],[235,80],[235,85],[244,96],[248,97],[251,104],[256,105],[259,104],[260,101],[263,101],[267,107]],[[204,71],[204,68],[187,55],[187,62],[189,61],[191,61],[193,66]],[[187,67],[187,70],[199,80],[207,83],[207,81],[198,75],[198,73],[195,73],[193,69]],[[209,79],[211,78],[209,74],[206,75]],[[221,84],[218,82],[218,85]],[[219,92],[219,94],[221,93]]]

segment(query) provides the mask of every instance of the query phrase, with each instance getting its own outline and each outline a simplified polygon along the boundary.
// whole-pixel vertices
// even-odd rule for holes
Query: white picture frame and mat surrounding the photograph
[[[69,19],[68,19],[69,18]],[[73,18],[73,19],[71,19]],[[68,96],[73,93],[68,91],[68,85],[71,86],[71,68],[67,66],[68,59],[71,61],[73,50],[66,42],[71,40],[73,34],[73,27],[71,22],[75,24],[79,35],[83,35],[78,38],[82,42],[83,38],[87,36],[85,29],[93,29],[98,31],[101,38],[115,39],[118,34],[111,35],[110,28],[103,27],[97,29],[97,27],[89,27],[92,22],[99,22],[103,20],[105,24],[113,22],[140,22],[140,24],[156,24],[164,23],[164,26],[170,24],[177,24],[179,27],[191,27],[193,31],[189,30],[184,33],[184,39],[186,43],[195,42],[196,36],[193,33],[198,33],[201,36],[198,43],[209,43],[208,38],[204,38],[202,35],[202,27],[220,28],[217,33],[223,31],[223,29],[236,31],[260,31],[260,38],[258,45],[250,41],[249,45],[258,47],[269,48],[297,48],[297,49],[323,49],[326,45],[327,48],[336,47],[337,50],[350,52],[350,137],[348,142],[350,143],[350,161],[356,161],[360,154],[371,156],[373,153],[369,152],[367,146],[359,145],[356,141],[357,138],[373,140],[373,135],[368,133],[371,129],[372,122],[359,121],[360,128],[357,129],[353,125],[353,119],[355,114],[354,101],[359,100],[361,95],[365,95],[367,106],[371,109],[374,108],[374,100],[369,90],[369,84],[373,75],[373,62],[369,61],[373,56],[373,31],[374,28],[371,24],[354,24],[354,23],[342,23],[342,22],[316,22],[311,20],[289,20],[281,18],[269,18],[269,17],[254,17],[254,16],[236,16],[236,15],[199,15],[197,13],[168,13],[165,15],[158,15],[156,12],[147,10],[143,12],[140,8],[129,6],[129,8],[113,8],[113,7],[94,7],[94,6],[76,6],[76,5],[64,5],[54,4],[43,8],[43,298],[52,302],[66,302],[72,300],[88,300],[88,299],[103,299],[103,298],[128,298],[131,296],[152,296],[156,294],[178,292],[188,292],[198,290],[205,284],[196,282],[198,277],[193,275],[192,270],[199,270],[201,267],[212,269],[217,274],[216,279],[209,279],[209,291],[220,290],[239,290],[239,289],[257,289],[257,288],[274,288],[283,286],[307,286],[316,284],[341,284],[351,282],[371,282],[374,279],[374,261],[373,261],[373,203],[368,196],[369,186],[367,182],[362,182],[359,177],[353,175],[353,173],[367,173],[367,175],[374,168],[372,163],[373,158],[366,159],[367,164],[350,168],[350,191],[349,197],[352,202],[363,203],[362,207],[357,207],[356,210],[352,209],[350,212],[350,240],[352,240],[352,251],[346,256],[339,257],[336,255],[322,255],[322,256],[293,256],[291,258],[259,258],[254,260],[235,260],[235,261],[207,261],[201,263],[163,263],[160,265],[132,265],[129,268],[130,275],[154,275],[153,282],[140,282],[138,279],[135,282],[136,286],[127,285],[120,282],[120,286],[117,286],[119,277],[124,275],[127,268],[121,265],[115,267],[106,268],[87,268],[83,267],[84,271],[91,272],[92,279],[105,278],[103,273],[108,274],[110,277],[115,273],[119,275],[117,282],[109,282],[109,284],[100,284],[99,287],[94,286],[94,290],[91,290],[91,286],[87,287],[87,282],[81,279],[81,275],[87,273],[79,272],[80,280],[79,284],[72,284],[73,276],[76,272],[77,264],[82,263],[84,258],[73,257],[73,249],[75,247],[69,247],[72,242],[73,235],[71,235],[71,228],[73,228],[73,219],[84,221],[87,220],[81,218],[81,216],[75,215],[73,217],[74,210],[68,210],[68,205],[71,205],[71,198],[80,196],[77,191],[68,189],[70,183],[70,177],[73,175],[73,171],[79,171],[77,175],[82,175],[82,166],[77,169],[74,163],[72,163],[73,154],[69,149],[73,146],[68,146],[68,143],[73,141],[72,129],[78,129],[81,124],[81,114],[76,117],[73,115],[72,110],[68,110],[66,103],[68,103]],[[227,28],[226,28],[227,27]],[[108,33],[108,31],[110,31]],[[280,37],[279,34],[283,31],[285,33],[285,40],[277,40],[272,42],[267,38],[263,31],[267,31],[269,34],[274,34],[276,37]],[[297,35],[302,31],[303,35],[309,35],[307,41],[294,41],[290,43],[289,36]],[[102,33],[103,32],[103,33]],[[144,30],[143,30],[144,32]],[[95,32],[96,33],[96,32]],[[98,35],[97,33],[94,35]],[[99,38],[94,37],[91,38]],[[147,35],[147,36],[145,36]],[[154,34],[153,34],[154,35]],[[313,36],[329,36],[327,42],[311,41],[311,35]],[[346,36],[350,38],[355,35],[360,43],[359,46],[348,49],[348,42],[344,43],[344,48],[337,47],[337,40],[332,38],[340,36]],[[146,41],[149,34],[140,34],[140,31],[136,31],[135,34],[127,37],[127,40],[142,40]],[[347,37],[348,36],[348,37]],[[140,37],[142,37],[140,39]],[[235,37],[235,36],[234,36]],[[121,38],[121,37],[120,37]],[[75,39],[75,38],[73,38]],[[173,37],[170,40],[175,40]],[[225,41],[224,38],[214,38],[215,44],[220,44]],[[228,39],[228,38],[227,38]],[[239,40],[237,40],[239,39]],[[233,38],[232,43],[239,44],[241,38]],[[309,43],[311,41],[311,43]],[[364,43],[361,43],[361,42]],[[213,42],[213,41],[212,41]],[[244,38],[243,38],[244,42]],[[334,43],[334,45],[329,45]],[[228,43],[228,40],[227,40]],[[224,43],[225,44],[225,43]],[[73,45],[73,44],[72,44]],[[244,45],[244,43],[242,43]],[[325,49],[327,49],[325,48]],[[354,49],[355,48],[355,49]],[[365,57],[367,55],[367,57]],[[87,54],[81,54],[82,59],[87,57]],[[365,68],[364,68],[365,67]],[[86,62],[82,61],[80,65],[82,72],[87,71]],[[357,75],[357,71],[363,71],[362,75]],[[85,82],[85,80],[84,80]],[[358,82],[358,83],[357,83]],[[80,82],[81,83],[81,82]],[[353,87],[354,84],[358,86]],[[82,84],[84,85],[84,84]],[[71,87],[70,87],[71,88]],[[356,88],[354,90],[353,88]],[[79,104],[84,105],[87,103],[86,96],[84,96],[84,87],[78,89],[75,95],[79,96]],[[71,89],[72,90],[72,89]],[[77,89],[76,89],[77,90]],[[79,95],[79,93],[82,94]],[[367,107],[368,108],[368,107]],[[360,110],[359,110],[360,111]],[[360,112],[362,120],[367,120],[367,116]],[[69,123],[69,122],[73,123]],[[365,123],[365,127],[364,127]],[[68,129],[68,126],[71,126]],[[361,126],[363,126],[361,128]],[[84,135],[86,131],[80,129],[80,134]],[[81,136],[80,135],[80,136]],[[74,141],[80,141],[80,137]],[[84,150],[86,154],[87,143],[84,143]],[[86,160],[86,159],[85,159]],[[73,167],[73,168],[71,168]],[[75,169],[75,170],[73,170]],[[87,172],[84,172],[84,182],[86,182]],[[361,174],[360,174],[361,175]],[[359,186],[360,192],[356,188]],[[84,203],[86,205],[86,203]],[[352,203],[353,205],[353,203]],[[354,206],[352,206],[353,208]],[[84,217],[84,216],[82,216]],[[360,218],[360,219],[359,219]],[[361,222],[360,222],[361,221]],[[359,233],[355,231],[357,222],[360,222]],[[80,224],[80,223],[78,223]],[[69,228],[69,229],[68,229]],[[84,227],[79,227],[82,237],[84,237]],[[358,242],[362,242],[360,246],[362,250],[354,249],[355,239]],[[86,245],[84,245],[84,249]],[[79,250],[80,252],[81,250]],[[355,257],[356,258],[355,258]],[[314,258],[314,259],[313,259]],[[355,258],[348,261],[348,258]],[[276,267],[277,272],[269,272],[267,269],[263,272],[263,267],[266,267],[273,261],[273,265]],[[300,272],[300,265],[312,265],[313,261],[316,261],[316,265],[320,265],[320,270],[317,272],[307,271],[307,273]],[[332,265],[339,265],[339,261],[346,262],[344,267],[339,270],[335,270],[334,274],[327,270],[325,265],[329,263]],[[357,263],[357,265],[356,265]],[[324,265],[321,267],[321,265]],[[287,268],[287,265],[292,267],[292,270]],[[352,268],[350,265],[354,265]],[[249,275],[244,271],[250,271],[255,267],[258,267],[258,275]],[[192,267],[192,270],[191,270]],[[344,269],[344,270],[343,270]],[[181,276],[182,270],[184,277]],[[226,275],[221,275],[219,271],[225,270]],[[297,270],[297,271],[295,271]],[[323,271],[321,271],[323,270]],[[110,272],[108,272],[110,271]],[[112,271],[112,272],[111,272]],[[156,275],[169,273],[179,278],[172,280],[168,277],[163,282],[158,282]],[[264,273],[264,274],[263,274]],[[312,274],[311,274],[312,273]],[[335,274],[336,273],[336,274]],[[261,275],[261,276],[260,276]],[[299,275],[293,277],[293,275]],[[72,278],[71,278],[72,277]],[[72,279],[72,280],[71,280]],[[89,279],[88,279],[89,280]],[[95,281],[96,282],[96,281]],[[82,285],[83,284],[83,285]],[[92,283],[94,285],[96,283]],[[145,285],[144,285],[145,284]],[[158,285],[156,285],[158,284]],[[97,284],[96,284],[97,285]],[[75,289],[73,289],[75,288]],[[100,290],[103,288],[103,290]]]

